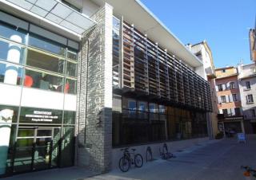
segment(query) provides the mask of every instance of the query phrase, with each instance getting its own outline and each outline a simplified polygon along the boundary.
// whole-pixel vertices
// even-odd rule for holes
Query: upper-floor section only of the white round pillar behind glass
[[[18,35],[12,35],[10,40],[22,42],[22,37]],[[7,53],[7,61],[13,63],[19,63],[21,57],[21,47],[10,43],[9,50]],[[17,84],[18,78],[18,66],[17,65],[6,65],[6,73],[4,83],[6,84]]]

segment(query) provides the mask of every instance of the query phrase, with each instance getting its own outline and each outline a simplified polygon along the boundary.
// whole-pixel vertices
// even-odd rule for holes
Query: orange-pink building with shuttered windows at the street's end
[[[224,115],[226,131],[244,132],[242,104],[238,84],[238,69],[235,67],[217,68],[216,91],[218,111]]]

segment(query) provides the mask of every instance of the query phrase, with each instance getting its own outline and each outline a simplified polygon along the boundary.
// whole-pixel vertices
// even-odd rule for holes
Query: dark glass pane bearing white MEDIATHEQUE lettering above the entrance
[[[62,123],[62,111],[41,108],[21,108],[20,123]]]

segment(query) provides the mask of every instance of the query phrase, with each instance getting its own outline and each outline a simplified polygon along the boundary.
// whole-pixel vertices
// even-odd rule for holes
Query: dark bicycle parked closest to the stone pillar
[[[123,151],[123,156],[122,158],[119,159],[119,169],[122,172],[127,172],[130,169],[131,164],[134,165],[135,167],[142,167],[143,165],[143,158],[142,155],[136,154],[135,151],[136,149],[131,149],[133,152],[130,153],[128,151],[129,147],[126,147],[125,149],[121,149]],[[133,157],[131,157],[133,155]]]

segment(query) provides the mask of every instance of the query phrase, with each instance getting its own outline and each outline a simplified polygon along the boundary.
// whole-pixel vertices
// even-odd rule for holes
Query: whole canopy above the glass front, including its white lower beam
[[[0,0],[0,9],[47,28],[55,26],[55,31],[59,32],[60,28],[76,37],[81,37],[82,33],[96,24],[59,0]]]

